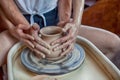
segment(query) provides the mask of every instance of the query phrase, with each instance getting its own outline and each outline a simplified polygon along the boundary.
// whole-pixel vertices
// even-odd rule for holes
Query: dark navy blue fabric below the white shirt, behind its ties
[[[24,16],[28,20],[28,22],[30,23],[30,15],[26,14]],[[58,9],[57,8],[51,10],[48,13],[45,13],[44,16],[46,18],[47,26],[57,25],[57,23],[59,21],[59,19],[58,19]],[[40,28],[44,27],[44,21],[43,21],[43,18],[41,16],[34,15],[33,18],[34,18],[34,22],[37,23],[40,26]]]

